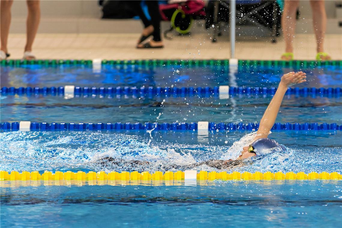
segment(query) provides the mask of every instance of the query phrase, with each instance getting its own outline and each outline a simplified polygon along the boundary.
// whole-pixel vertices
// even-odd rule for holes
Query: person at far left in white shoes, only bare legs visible
[[[40,21],[40,1],[27,0],[27,21],[26,21],[26,45],[24,48],[23,59],[31,60],[36,56],[32,53],[32,44],[38,31]],[[0,59],[6,59],[10,56],[7,49],[8,35],[11,24],[11,7],[13,0],[0,1]]]

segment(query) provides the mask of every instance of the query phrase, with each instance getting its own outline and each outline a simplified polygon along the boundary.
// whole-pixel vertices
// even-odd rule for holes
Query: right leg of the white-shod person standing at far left
[[[35,36],[38,31],[40,21],[40,1],[39,0],[27,0],[27,22],[26,22],[26,45],[25,51],[32,51],[32,44],[35,40]],[[32,59],[32,57],[28,57]]]

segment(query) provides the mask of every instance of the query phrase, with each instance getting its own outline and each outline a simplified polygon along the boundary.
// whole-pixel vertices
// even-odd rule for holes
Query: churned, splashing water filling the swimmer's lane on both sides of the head
[[[194,166],[194,163],[218,158],[235,159],[256,133],[244,135],[229,148],[224,141],[222,145],[215,141],[202,144],[194,134],[154,131],[153,136],[158,140],[148,145],[146,138],[149,134],[145,132],[4,132],[0,133],[0,169],[154,172],[190,167],[212,171],[215,170],[212,167]],[[319,133],[321,137],[317,137],[317,134],[291,140],[287,144],[291,149],[246,159],[243,166],[235,166],[229,172],[342,172],[342,146],[336,144],[340,135]],[[234,133],[229,135],[233,137]],[[235,135],[231,142],[238,136]],[[273,138],[281,142],[285,136],[288,137],[288,133],[274,133]],[[312,145],[307,145],[308,141]],[[113,158],[115,162],[106,162],[105,158]]]

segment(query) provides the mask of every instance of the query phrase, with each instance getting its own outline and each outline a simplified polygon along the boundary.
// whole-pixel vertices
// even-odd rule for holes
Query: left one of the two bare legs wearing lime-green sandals
[[[293,36],[296,25],[298,4],[298,0],[285,0],[284,2],[284,11],[281,16],[281,27],[285,40],[285,52],[293,53]],[[281,56],[281,59],[290,60],[285,56]]]

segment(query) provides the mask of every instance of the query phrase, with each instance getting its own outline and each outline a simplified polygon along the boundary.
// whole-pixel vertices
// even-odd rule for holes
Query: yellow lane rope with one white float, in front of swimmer
[[[185,170],[183,171],[166,171],[160,172],[156,171],[155,173],[145,172],[126,172],[123,171],[121,173],[118,172],[110,172],[106,173],[104,171],[93,172],[89,171],[88,173],[83,171],[78,172],[61,172],[56,171],[52,173],[51,171],[44,171],[40,173],[38,171],[22,171],[19,173],[17,171],[0,171],[0,180],[83,180],[83,181],[90,181],[90,180],[124,180],[124,181],[155,181],[155,180],[165,180],[165,181],[178,181],[178,180],[307,180],[307,179],[324,179],[324,180],[341,180],[342,175],[338,172],[311,172],[311,173],[304,173],[304,172],[232,172],[227,173],[225,171],[222,172],[207,172],[207,171],[199,171],[196,170]]]

